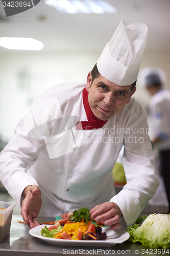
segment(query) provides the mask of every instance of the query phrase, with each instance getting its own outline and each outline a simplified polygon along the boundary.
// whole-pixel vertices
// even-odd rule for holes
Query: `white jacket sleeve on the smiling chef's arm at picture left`
[[[0,156],[0,179],[18,206],[23,189],[38,185],[27,170],[39,157],[44,139],[52,135],[53,121],[62,117],[56,91],[44,92],[34,100]]]

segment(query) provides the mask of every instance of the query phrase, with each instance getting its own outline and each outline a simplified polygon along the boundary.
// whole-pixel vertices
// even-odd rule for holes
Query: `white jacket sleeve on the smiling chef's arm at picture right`
[[[135,103],[127,112],[124,134],[123,163],[127,184],[110,200],[122,210],[128,226],[136,221],[159,186],[148,131],[147,117],[140,105]]]

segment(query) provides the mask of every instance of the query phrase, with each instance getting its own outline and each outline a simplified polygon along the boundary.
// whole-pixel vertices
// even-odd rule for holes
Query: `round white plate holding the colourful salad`
[[[45,226],[49,227],[51,225],[40,225],[30,229],[29,233],[31,236],[39,238],[48,244],[54,245],[69,245],[69,246],[112,246],[115,244],[123,243],[130,237],[129,233],[120,229],[112,230],[106,227],[102,228],[103,232],[107,233],[107,240],[66,240],[66,239],[56,239],[56,238],[45,238],[41,236],[41,229]]]

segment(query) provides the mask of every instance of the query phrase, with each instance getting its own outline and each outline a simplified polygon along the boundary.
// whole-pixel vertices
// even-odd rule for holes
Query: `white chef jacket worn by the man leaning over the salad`
[[[65,116],[87,121],[84,87],[62,83],[33,102],[1,153],[0,179],[18,205],[23,189],[37,184],[47,199],[41,210],[45,208],[48,216],[111,201],[122,210],[127,225],[132,225],[159,185],[147,117],[131,98],[100,129],[76,133],[69,123],[67,130],[60,130],[63,124],[56,125],[56,120],[60,123]],[[38,130],[34,133],[34,129]],[[114,196],[111,171],[122,145],[127,184]],[[52,204],[58,212],[51,211]]]

